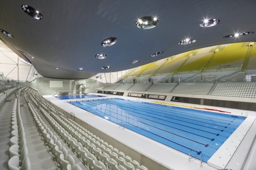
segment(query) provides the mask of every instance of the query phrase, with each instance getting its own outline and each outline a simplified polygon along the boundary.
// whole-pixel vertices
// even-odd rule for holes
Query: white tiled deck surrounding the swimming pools
[[[91,93],[91,94],[102,95],[98,93]],[[139,100],[139,101],[145,101],[145,102],[159,101],[159,100],[142,99],[142,98],[135,98],[135,97],[123,97],[123,96],[116,96],[116,95],[109,95],[109,94],[104,94],[104,95],[106,97],[100,97],[100,99],[122,98],[122,99],[130,99],[130,100],[137,100],[137,101]],[[115,138],[121,143],[131,147],[132,149],[140,153],[143,153],[147,157],[154,159],[156,162],[159,162],[159,164],[162,164],[170,169],[177,169],[177,170],[178,169],[212,170],[212,169],[218,169],[218,168],[224,169],[227,165],[232,164],[231,162],[232,160],[234,161],[233,164],[236,163],[237,160],[234,158],[236,155],[238,155],[239,160],[242,160],[241,153],[237,153],[235,151],[236,150],[239,151],[239,148],[242,146],[247,146],[247,149],[250,148],[248,147],[248,143],[250,142],[252,143],[253,141],[252,137],[254,137],[256,133],[255,130],[253,131],[252,128],[250,129],[253,122],[254,124],[256,123],[256,121],[254,121],[256,118],[256,113],[253,111],[164,101],[168,103],[181,104],[181,105],[186,105],[191,107],[207,107],[207,108],[219,109],[219,110],[231,112],[232,115],[239,115],[239,116],[241,116],[241,113],[243,113],[244,116],[246,113],[248,113],[247,119],[239,126],[238,129],[236,129],[236,131],[228,138],[228,140],[220,147],[220,149],[217,152],[215,152],[215,154],[208,160],[208,164],[203,162],[202,167],[200,167],[200,160],[198,159],[191,159],[190,161],[188,161],[187,154],[181,153],[164,144],[151,140],[148,137],[144,137],[138,133],[133,132],[132,130],[129,130],[129,129],[122,130],[122,128],[119,129],[117,124],[112,123],[103,118],[100,118],[98,116],[93,116],[92,114],[88,114],[87,111],[67,103],[69,101],[94,100],[98,98],[59,100],[51,95],[44,95],[43,97],[48,101],[50,100],[52,104],[62,108],[66,112],[74,113],[76,118],[83,120],[90,126],[95,127],[96,129]],[[220,113],[218,111],[211,111],[211,112]],[[223,114],[229,114],[229,113],[223,113]],[[250,132],[250,135],[247,132],[248,133]],[[242,141],[244,142],[244,145],[241,143]],[[235,147],[232,145],[233,143]],[[242,152],[242,151],[239,151],[239,152]],[[243,153],[242,156],[243,155],[244,157],[246,157],[247,153]]]

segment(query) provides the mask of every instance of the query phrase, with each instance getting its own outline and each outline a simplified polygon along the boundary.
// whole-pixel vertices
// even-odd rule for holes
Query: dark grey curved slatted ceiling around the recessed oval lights
[[[43,19],[23,12],[23,4],[40,11]],[[0,28],[14,38],[2,33],[0,38],[23,59],[27,57],[44,77],[83,79],[197,48],[256,41],[256,33],[222,38],[256,32],[255,11],[255,0],[1,0]],[[157,17],[158,26],[149,30],[136,27],[135,21],[143,16]],[[220,24],[200,27],[204,18],[219,19]],[[116,44],[101,47],[108,37],[116,37]],[[178,45],[185,38],[196,42]],[[159,51],[164,53],[150,57]],[[107,58],[96,59],[98,53]],[[132,60],[140,62],[131,64]],[[111,69],[102,70],[102,66]],[[84,71],[78,71],[80,67]]]

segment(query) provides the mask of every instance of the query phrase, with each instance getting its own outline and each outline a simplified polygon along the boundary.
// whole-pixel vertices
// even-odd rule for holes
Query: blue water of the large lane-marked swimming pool
[[[207,160],[245,117],[124,99],[99,99],[71,104],[180,152],[195,150]],[[193,153],[191,153],[192,156]]]

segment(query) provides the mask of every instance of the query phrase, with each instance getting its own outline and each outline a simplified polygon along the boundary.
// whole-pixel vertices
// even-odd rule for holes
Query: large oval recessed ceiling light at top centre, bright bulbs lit
[[[155,17],[141,17],[135,22],[136,26],[141,29],[151,29],[157,26],[159,23]]]

